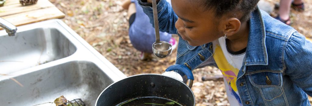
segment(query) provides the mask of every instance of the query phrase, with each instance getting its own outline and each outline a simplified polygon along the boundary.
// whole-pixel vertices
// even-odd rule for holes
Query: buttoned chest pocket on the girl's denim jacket
[[[282,90],[282,73],[257,72],[248,75],[248,78],[251,84],[258,89],[266,103],[280,104],[281,102],[283,104],[285,100]]]

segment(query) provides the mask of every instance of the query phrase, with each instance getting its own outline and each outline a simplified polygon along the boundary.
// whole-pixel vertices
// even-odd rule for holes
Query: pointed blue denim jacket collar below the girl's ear
[[[268,65],[265,26],[258,7],[251,13],[249,22],[250,31],[246,48],[245,66]]]

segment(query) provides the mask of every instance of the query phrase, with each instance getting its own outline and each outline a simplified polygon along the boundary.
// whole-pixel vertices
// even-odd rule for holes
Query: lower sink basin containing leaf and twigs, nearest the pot
[[[33,106],[53,102],[61,95],[67,100],[81,99],[86,106],[94,106],[99,94],[114,82],[87,61],[67,62],[14,78],[24,87],[10,79],[1,81],[0,94],[5,95],[0,96],[3,106]]]

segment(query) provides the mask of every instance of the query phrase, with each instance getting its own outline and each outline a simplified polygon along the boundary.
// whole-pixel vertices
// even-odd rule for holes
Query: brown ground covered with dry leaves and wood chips
[[[128,36],[127,12],[120,6],[121,0],[50,0],[66,17],[61,19],[76,33],[99,51],[127,76],[142,73],[163,73],[175,64],[176,50],[165,59],[149,62],[139,60],[140,52],[134,49]],[[279,0],[265,0],[271,6]],[[312,1],[304,0],[304,12],[291,10],[292,26],[308,38],[312,38]],[[276,15],[276,11],[272,12]],[[178,37],[175,36],[178,40]],[[205,81],[203,76],[221,75],[215,67],[193,71],[195,81],[192,90],[196,106],[229,105],[222,81]],[[311,101],[312,99],[310,99]]]

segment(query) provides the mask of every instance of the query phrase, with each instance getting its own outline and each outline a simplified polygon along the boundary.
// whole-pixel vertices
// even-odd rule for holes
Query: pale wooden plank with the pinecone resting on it
[[[42,8],[48,8],[48,7],[55,7],[55,6],[48,0],[38,0],[36,4],[29,5],[29,6],[22,6],[19,3],[12,4],[8,6],[0,7],[0,10],[1,10],[0,17],[18,14],[18,13],[27,12],[27,11],[33,11],[33,10],[42,9]]]

